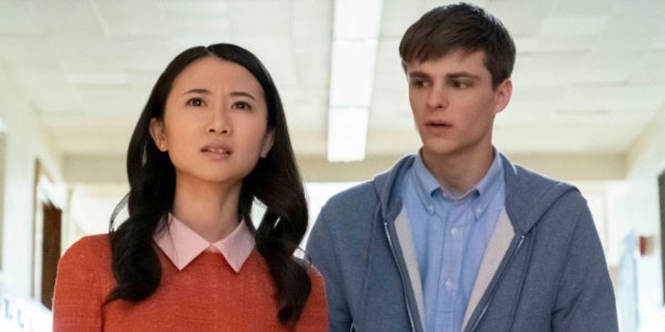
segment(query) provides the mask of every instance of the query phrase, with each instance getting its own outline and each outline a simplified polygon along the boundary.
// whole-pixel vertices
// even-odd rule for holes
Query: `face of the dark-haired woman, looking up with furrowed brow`
[[[151,135],[168,153],[176,181],[239,184],[273,146],[260,84],[242,65],[215,56],[177,75]]]

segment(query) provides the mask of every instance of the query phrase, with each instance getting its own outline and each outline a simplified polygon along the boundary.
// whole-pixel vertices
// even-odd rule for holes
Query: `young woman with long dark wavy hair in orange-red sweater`
[[[321,277],[294,258],[307,206],[284,110],[254,54],[177,55],[139,118],[127,175],[110,234],[60,260],[55,331],[327,330]]]

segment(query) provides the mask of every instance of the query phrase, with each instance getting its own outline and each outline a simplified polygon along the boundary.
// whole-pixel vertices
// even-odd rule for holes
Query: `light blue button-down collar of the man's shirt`
[[[501,163],[501,158],[495,151],[493,151],[493,155],[494,157],[492,159],[492,164],[490,165],[490,169],[485,176],[473,188],[471,188],[471,190],[460,196],[453,196],[443,187],[441,187],[437,178],[429,172],[429,169],[427,169],[424,163],[422,162],[422,156],[420,153],[418,153],[412,166],[413,183],[418,198],[424,206],[426,210],[429,211],[430,215],[433,214],[432,199],[434,199],[434,194],[437,190],[440,190],[443,198],[451,201],[466,201],[466,198],[468,197],[474,198],[473,214],[475,215],[477,219],[480,218],[480,215],[484,212],[485,208],[492,201],[494,196],[492,193],[497,193],[503,183],[503,164]]]

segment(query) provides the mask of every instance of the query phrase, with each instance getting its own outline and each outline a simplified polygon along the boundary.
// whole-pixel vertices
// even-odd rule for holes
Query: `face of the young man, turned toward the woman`
[[[491,151],[494,115],[510,101],[512,83],[492,87],[484,52],[454,51],[406,68],[409,102],[426,159],[473,157]]]

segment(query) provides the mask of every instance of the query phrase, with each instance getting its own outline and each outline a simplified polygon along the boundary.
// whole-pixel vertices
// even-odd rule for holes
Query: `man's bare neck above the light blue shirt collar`
[[[485,176],[494,152],[488,149],[474,154],[436,155],[420,152],[427,169],[437,178],[441,187],[459,196],[469,193]]]

